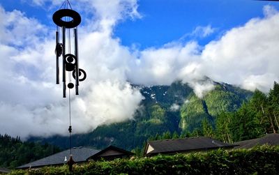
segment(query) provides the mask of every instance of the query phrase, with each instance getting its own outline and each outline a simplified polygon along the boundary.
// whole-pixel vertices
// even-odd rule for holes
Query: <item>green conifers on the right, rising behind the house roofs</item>
[[[266,133],[279,130],[279,84],[274,82],[273,89],[265,94],[255,90],[252,98],[243,102],[235,112],[220,112],[213,117],[213,122],[204,119],[200,128],[193,132],[163,132],[150,137],[154,139],[175,139],[179,137],[207,136],[223,142],[233,143],[261,137]]]

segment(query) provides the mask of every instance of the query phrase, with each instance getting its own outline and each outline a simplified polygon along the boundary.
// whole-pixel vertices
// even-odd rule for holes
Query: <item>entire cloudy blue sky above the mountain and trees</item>
[[[68,135],[68,99],[55,84],[52,14],[60,0],[0,0],[0,133]],[[250,0],[75,0],[80,66],[75,133],[133,119],[130,83],[181,80],[202,98],[212,81],[268,92],[279,81],[279,3]],[[68,75],[67,75],[68,76]],[[177,105],[177,104],[173,104]],[[20,115],[18,115],[20,114]],[[18,128],[21,128],[20,130]]]

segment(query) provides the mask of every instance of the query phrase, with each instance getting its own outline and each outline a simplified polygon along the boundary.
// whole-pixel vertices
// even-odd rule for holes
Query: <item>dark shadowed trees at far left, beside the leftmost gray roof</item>
[[[0,167],[13,169],[59,152],[57,146],[22,142],[20,137],[0,135]]]

